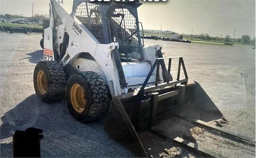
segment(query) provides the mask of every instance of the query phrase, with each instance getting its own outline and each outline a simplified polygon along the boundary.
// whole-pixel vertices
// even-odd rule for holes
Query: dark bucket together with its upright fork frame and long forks
[[[255,143],[253,139],[208,123],[226,119],[200,84],[187,84],[188,76],[182,57],[177,57],[177,80],[158,84],[160,61],[169,60],[170,74],[172,58],[158,58],[140,89],[112,98],[104,131],[142,157],[159,157],[164,149],[175,145],[185,146],[205,157],[224,157],[196,144],[189,132],[196,125]],[[156,67],[155,86],[146,87]],[[181,67],[184,79],[179,78]]]

